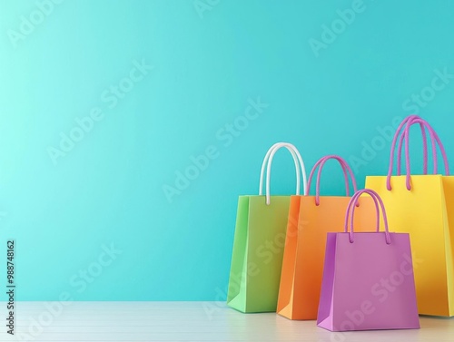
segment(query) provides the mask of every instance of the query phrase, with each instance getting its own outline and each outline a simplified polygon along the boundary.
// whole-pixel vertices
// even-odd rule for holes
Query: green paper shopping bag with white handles
[[[291,151],[296,170],[296,193],[306,171],[300,152],[286,142],[276,143],[262,163],[259,196],[240,196],[233,238],[227,305],[242,312],[275,312],[290,196],[271,196],[271,162],[282,147]],[[266,168],[266,196],[262,184]]]

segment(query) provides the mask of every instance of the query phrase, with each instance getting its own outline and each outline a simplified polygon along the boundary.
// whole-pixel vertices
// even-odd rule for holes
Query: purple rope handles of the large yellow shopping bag
[[[405,139],[405,161],[406,161],[406,168],[407,168],[407,178],[406,178],[406,185],[407,185],[407,190],[411,190],[411,185],[410,185],[410,151],[409,151],[409,138],[410,138],[410,126],[414,123],[419,123],[420,125],[423,125],[427,130],[429,131],[430,139],[432,142],[432,152],[434,154],[434,173],[438,171],[438,162],[437,162],[437,147],[435,145],[435,142],[438,143],[439,145],[439,150],[441,151],[441,154],[443,156],[443,161],[445,164],[445,173],[446,175],[449,175],[449,163],[448,163],[448,157],[446,155],[446,151],[443,147],[443,144],[439,140],[439,136],[437,132],[433,130],[433,128],[429,125],[429,122],[421,119],[418,115],[410,115],[408,118],[406,118],[404,121],[400,122],[400,125],[397,129],[396,134],[394,134],[394,139],[391,142],[391,151],[390,151],[390,168],[388,170],[388,176],[386,180],[386,188],[388,191],[391,190],[391,185],[390,185],[390,178],[391,178],[391,173],[392,173],[392,168],[393,168],[393,156],[394,156],[394,150],[395,150],[395,145],[399,136],[399,133],[404,126],[404,124],[407,123],[407,126],[405,127],[405,131],[402,133],[403,138]],[[425,141],[424,141],[425,142]],[[427,142],[425,142],[426,149],[427,149]],[[400,159],[397,160],[398,165],[400,164]]]

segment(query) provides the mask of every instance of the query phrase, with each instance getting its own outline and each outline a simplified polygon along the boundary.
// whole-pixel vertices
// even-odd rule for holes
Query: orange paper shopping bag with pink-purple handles
[[[321,170],[325,162],[331,159],[341,164],[346,196],[320,195]],[[279,315],[290,319],[317,319],[326,234],[336,228],[342,229],[345,210],[350,201],[349,175],[353,190],[357,191],[347,161],[336,155],[328,155],[312,168],[308,192],[317,169],[315,196],[309,196],[308,193],[305,196],[291,196],[277,307]],[[374,220],[375,206],[368,197],[361,198],[359,203],[355,227],[359,230],[368,229]]]

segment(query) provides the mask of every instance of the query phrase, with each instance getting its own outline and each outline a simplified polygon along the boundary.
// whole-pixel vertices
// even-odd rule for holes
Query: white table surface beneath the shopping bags
[[[418,330],[331,333],[314,321],[244,315],[222,302],[73,302],[54,312],[44,305],[16,303],[16,334],[2,324],[0,341],[454,341],[454,318],[421,317]]]

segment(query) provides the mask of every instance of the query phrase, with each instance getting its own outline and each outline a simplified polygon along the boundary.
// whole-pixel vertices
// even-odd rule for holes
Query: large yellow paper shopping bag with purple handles
[[[427,142],[423,135],[424,174],[410,170],[410,126],[419,123],[429,132],[434,174],[427,174]],[[405,125],[405,128],[404,128]],[[399,134],[403,130],[402,134]],[[397,176],[392,176],[394,149],[399,138]],[[402,142],[405,141],[406,174],[400,175]],[[438,173],[437,146],[443,156],[446,176]],[[419,314],[454,316],[454,177],[439,136],[429,123],[411,115],[400,123],[390,152],[388,176],[366,177],[366,187],[377,191],[388,209],[390,225],[409,232],[415,260]]]

